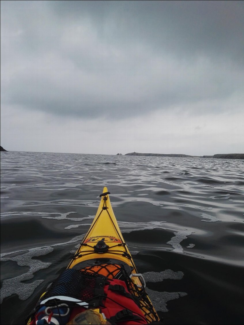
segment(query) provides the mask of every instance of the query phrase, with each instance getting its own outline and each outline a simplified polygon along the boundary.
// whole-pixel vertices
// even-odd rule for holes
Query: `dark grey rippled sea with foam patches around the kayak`
[[[1,152],[1,324],[66,268],[103,187],[165,324],[244,322],[244,161]]]

